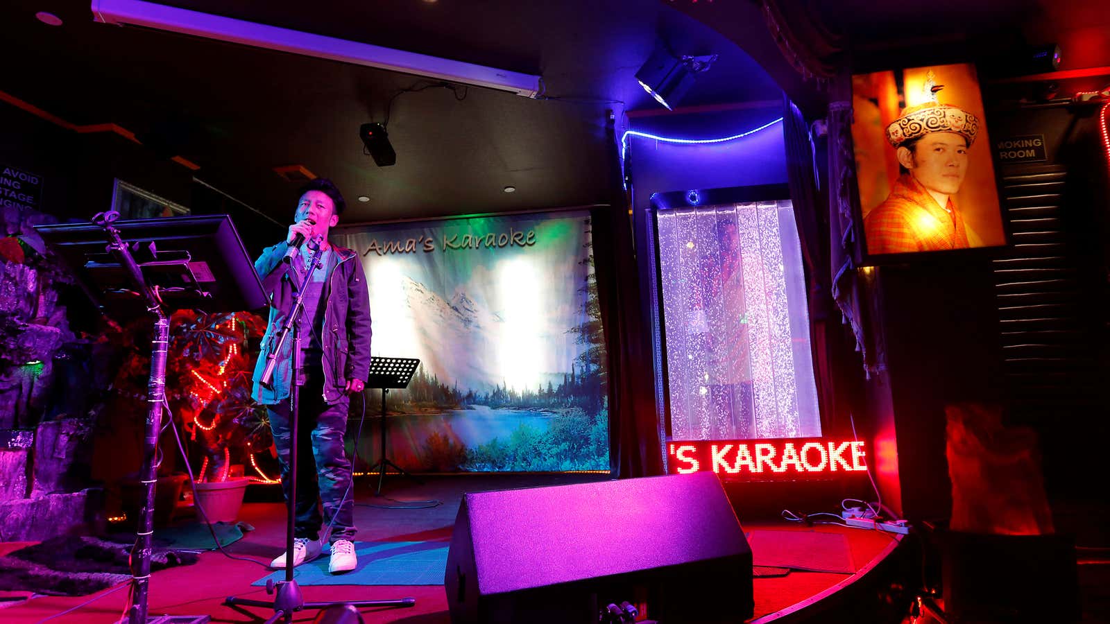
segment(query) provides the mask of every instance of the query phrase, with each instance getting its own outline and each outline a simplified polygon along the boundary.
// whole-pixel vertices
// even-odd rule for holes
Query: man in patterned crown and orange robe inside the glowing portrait
[[[969,246],[953,195],[967,175],[968,149],[979,120],[963,109],[938,103],[940,89],[930,71],[925,83],[930,101],[907,108],[887,127],[900,175],[886,201],[864,220],[868,253]]]

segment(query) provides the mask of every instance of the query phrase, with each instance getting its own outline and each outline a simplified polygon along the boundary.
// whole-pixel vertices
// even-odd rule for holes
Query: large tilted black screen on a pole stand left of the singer
[[[266,304],[262,282],[225,214],[119,221],[115,211],[98,213],[92,223],[36,225],[42,240],[70,266],[101,310],[131,319],[143,310],[154,316],[151,340],[148,412],[140,483],[144,504],[135,531],[138,570],[132,570],[133,606],[127,621],[138,624],[190,622],[208,615],[148,618],[151,542],[154,533],[155,454],[165,403],[165,358],[170,318],[180,309],[236,312]],[[107,245],[105,245],[107,243]]]

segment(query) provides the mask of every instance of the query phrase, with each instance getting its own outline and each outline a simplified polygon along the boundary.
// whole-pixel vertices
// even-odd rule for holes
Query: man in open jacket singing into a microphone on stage
[[[294,336],[286,338],[269,388],[260,383],[266,355],[304,290],[304,310],[295,325],[302,364],[299,394],[297,480],[293,565],[320,556],[330,539],[330,572],[354,570],[354,492],[351,462],[344,454],[349,395],[362,392],[370,370],[370,295],[359,255],[327,242],[327,232],[345,208],[331,180],[317,178],[301,190],[295,222],[285,241],[268,248],[254,262],[270,298],[270,324],[254,369],[254,400],[266,405],[289,501],[289,452],[292,414]],[[299,249],[295,243],[304,241]],[[310,265],[316,249],[320,260]],[[317,502],[319,497],[319,502]],[[323,507],[323,516],[320,507]],[[321,534],[327,520],[330,534]],[[272,567],[284,567],[282,554]]]

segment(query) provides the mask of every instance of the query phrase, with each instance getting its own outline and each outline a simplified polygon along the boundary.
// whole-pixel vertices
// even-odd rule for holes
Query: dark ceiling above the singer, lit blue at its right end
[[[679,53],[719,54],[684,105],[780,92],[736,44],[656,0],[163,3],[543,77],[552,99],[482,88],[397,97],[389,121],[397,163],[379,168],[359,125],[383,121],[390,98],[417,77],[94,23],[88,0],[0,9],[0,49],[21,61],[0,90],[72,123],[169,135],[201,167],[196,178],[282,221],[295,185],[272,168],[289,164],[334,179],[347,221],[605,202],[607,111],[657,108],[634,78],[657,36]],[[36,20],[43,10],[63,26]]]

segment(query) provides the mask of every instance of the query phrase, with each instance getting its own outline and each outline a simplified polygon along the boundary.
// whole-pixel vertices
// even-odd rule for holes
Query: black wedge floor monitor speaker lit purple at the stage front
[[[751,616],[751,550],[713,473],[465,494],[444,577],[453,624]]]

